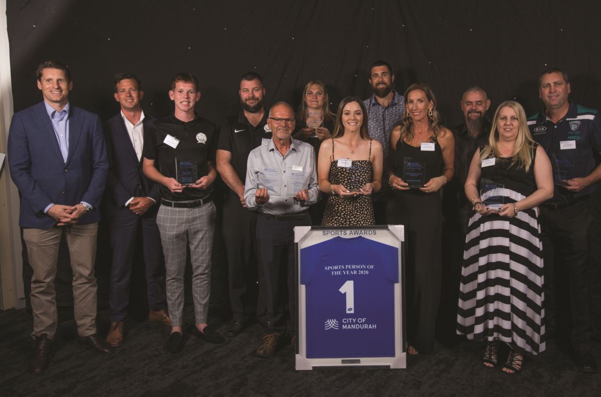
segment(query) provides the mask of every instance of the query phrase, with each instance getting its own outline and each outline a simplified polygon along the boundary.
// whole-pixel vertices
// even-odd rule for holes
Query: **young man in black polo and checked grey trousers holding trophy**
[[[207,325],[215,230],[212,184],[216,177],[216,126],[194,111],[200,91],[198,80],[190,73],[178,73],[173,78],[169,97],[175,105],[173,114],[157,120],[144,142],[144,174],[160,183],[156,221],[165,253],[171,317],[168,349],[177,352],[182,349],[186,244],[190,247],[196,319],[191,332],[210,343],[222,343],[224,339]]]

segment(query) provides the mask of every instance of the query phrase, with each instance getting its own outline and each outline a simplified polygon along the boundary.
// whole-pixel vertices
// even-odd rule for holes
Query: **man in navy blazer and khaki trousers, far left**
[[[34,270],[31,279],[30,363],[42,372],[56,333],[54,279],[61,235],[65,233],[73,269],[77,340],[101,354],[114,349],[96,334],[94,277],[100,199],[105,189],[106,147],[96,114],[71,106],[71,73],[47,61],[37,69],[43,101],[13,115],[8,133],[8,166],[20,192],[19,225]]]

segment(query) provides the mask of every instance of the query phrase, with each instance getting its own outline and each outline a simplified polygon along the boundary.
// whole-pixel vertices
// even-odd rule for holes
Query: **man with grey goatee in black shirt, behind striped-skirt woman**
[[[455,137],[455,173],[445,185],[442,196],[444,224],[442,229],[445,265],[442,266],[445,282],[441,291],[441,306],[436,328],[440,337],[452,338],[456,335],[457,300],[459,280],[463,265],[463,247],[468,232],[469,215],[472,205],[465,197],[465,180],[469,164],[478,147],[488,142],[490,122],[485,115],[490,107],[490,99],[482,88],[474,85],[463,93],[459,102],[463,112],[463,123],[451,129]]]

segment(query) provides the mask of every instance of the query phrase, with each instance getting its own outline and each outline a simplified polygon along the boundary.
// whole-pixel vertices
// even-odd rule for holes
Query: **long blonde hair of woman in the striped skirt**
[[[499,111],[501,111],[502,108],[511,108],[517,115],[517,137],[516,143],[513,146],[513,152],[511,152],[511,156],[513,157],[511,165],[517,164],[518,167],[525,168],[527,172],[532,165],[532,149],[534,149],[536,144],[534,140],[532,140],[528,124],[526,124],[526,112],[524,111],[524,108],[522,108],[522,105],[514,100],[505,100],[505,102],[501,103],[501,105],[496,108],[495,117],[493,117],[492,127],[490,128],[489,144],[484,147],[482,152],[480,152],[480,161],[488,158],[490,155],[501,156],[498,146],[499,131],[497,125]]]

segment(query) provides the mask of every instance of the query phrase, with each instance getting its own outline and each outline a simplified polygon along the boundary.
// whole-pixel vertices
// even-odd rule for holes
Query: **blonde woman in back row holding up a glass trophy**
[[[329,108],[326,86],[319,80],[311,80],[303,90],[292,137],[311,144],[317,159],[322,141],[332,138],[335,119],[336,115]],[[328,194],[323,194],[319,202],[310,206],[309,214],[313,224],[319,225],[322,221],[327,201]]]

